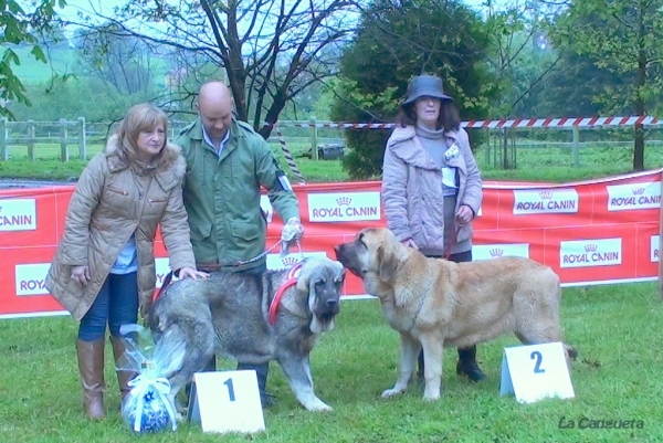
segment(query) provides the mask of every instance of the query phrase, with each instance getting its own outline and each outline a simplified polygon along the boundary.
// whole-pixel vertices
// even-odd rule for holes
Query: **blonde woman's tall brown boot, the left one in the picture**
[[[76,340],[78,371],[83,384],[85,414],[92,420],[106,416],[104,411],[104,339]]]

